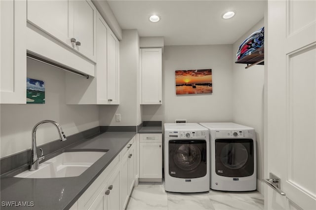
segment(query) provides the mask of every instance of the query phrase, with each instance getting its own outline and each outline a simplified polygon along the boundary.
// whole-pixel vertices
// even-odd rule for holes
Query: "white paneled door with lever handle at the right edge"
[[[265,209],[316,209],[316,1],[269,0],[265,59]]]

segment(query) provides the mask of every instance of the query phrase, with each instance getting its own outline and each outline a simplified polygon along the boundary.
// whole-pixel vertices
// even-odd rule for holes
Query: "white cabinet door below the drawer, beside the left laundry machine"
[[[162,143],[139,143],[139,177],[162,178]]]

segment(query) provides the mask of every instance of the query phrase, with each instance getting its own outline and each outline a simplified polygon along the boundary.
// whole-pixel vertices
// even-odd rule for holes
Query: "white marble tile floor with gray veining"
[[[263,210],[263,195],[253,192],[171,193],[163,183],[134,187],[126,210]]]

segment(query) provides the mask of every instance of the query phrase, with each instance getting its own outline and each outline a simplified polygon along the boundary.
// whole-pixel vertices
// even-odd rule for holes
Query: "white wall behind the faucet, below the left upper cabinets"
[[[1,105],[1,157],[30,149],[32,129],[41,120],[58,122],[66,136],[99,126],[96,105],[66,105],[64,70],[28,59],[27,76],[45,81],[45,104]],[[38,145],[57,139],[56,127],[39,127]]]

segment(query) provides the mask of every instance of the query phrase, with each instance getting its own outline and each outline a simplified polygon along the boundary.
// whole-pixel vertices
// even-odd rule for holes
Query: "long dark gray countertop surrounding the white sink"
[[[76,177],[1,177],[1,209],[21,209],[21,207],[3,207],[3,202],[16,202],[16,205],[18,202],[34,202],[34,207],[22,207],[22,209],[69,209],[134,135],[135,132],[106,132],[65,148],[67,151],[109,149],[97,162]]]

